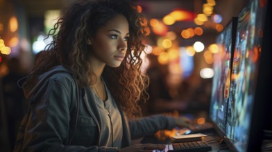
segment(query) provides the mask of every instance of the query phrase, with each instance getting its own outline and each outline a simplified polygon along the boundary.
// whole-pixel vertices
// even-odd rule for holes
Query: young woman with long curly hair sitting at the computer
[[[131,119],[147,97],[142,19],[121,0],[77,1],[60,17],[24,82],[31,104],[15,151],[151,151],[164,146],[130,140],[189,125],[163,115]]]

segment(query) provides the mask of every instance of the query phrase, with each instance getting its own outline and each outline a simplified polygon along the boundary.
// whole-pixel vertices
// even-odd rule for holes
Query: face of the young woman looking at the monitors
[[[94,58],[102,64],[118,67],[124,60],[128,47],[128,21],[122,15],[110,19],[91,38]]]

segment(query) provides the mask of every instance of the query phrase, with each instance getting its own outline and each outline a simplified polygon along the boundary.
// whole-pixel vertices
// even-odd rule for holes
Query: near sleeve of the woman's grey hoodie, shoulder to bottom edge
[[[71,79],[49,78],[33,94],[23,151],[116,151],[116,148],[99,149],[98,146],[67,146],[70,110],[76,107],[73,83]]]

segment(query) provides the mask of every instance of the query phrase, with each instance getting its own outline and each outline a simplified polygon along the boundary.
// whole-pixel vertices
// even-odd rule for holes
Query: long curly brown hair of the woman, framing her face
[[[87,44],[87,39],[94,37],[99,28],[117,15],[123,15],[128,20],[128,50],[118,68],[105,66],[102,75],[128,117],[139,115],[141,109],[137,102],[148,98],[148,77],[140,70],[140,55],[145,47],[142,44],[144,18],[137,7],[126,0],[82,0],[71,5],[50,30],[49,36],[53,37],[53,41],[37,57],[35,68],[24,86],[34,86],[39,75],[60,64],[71,71],[79,86],[85,88],[93,84],[94,80],[90,79],[95,77],[90,64],[92,46]]]

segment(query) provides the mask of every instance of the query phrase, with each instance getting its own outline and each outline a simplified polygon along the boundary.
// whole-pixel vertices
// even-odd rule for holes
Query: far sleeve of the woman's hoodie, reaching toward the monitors
[[[130,120],[128,123],[132,138],[154,135],[162,129],[171,130],[176,125],[175,118],[166,115],[152,115],[139,120]]]

